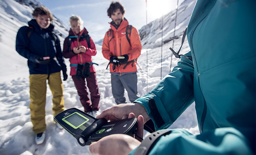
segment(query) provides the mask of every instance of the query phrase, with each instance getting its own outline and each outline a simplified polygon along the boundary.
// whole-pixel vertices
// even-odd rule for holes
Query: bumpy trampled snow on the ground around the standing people
[[[177,41],[177,44],[178,42],[180,41]],[[163,73],[169,72],[170,69],[171,53],[168,47],[168,44],[163,46]],[[178,45],[176,47],[178,47]],[[185,45],[184,50],[188,50],[188,48],[185,48]],[[140,95],[144,95],[147,92],[147,83],[148,90],[151,90],[160,81],[161,48],[148,49],[148,82],[146,81],[145,51],[145,49],[142,50],[142,54],[138,59],[138,64],[142,69],[138,71],[138,91]],[[97,52],[97,55],[94,57],[94,62],[99,64],[99,67],[95,67],[101,97],[99,111],[102,111],[115,105],[115,103],[111,92],[110,73],[109,70],[105,69],[108,61],[106,61],[101,54],[101,46],[97,45]],[[20,56],[20,58],[22,57]],[[177,61],[177,59],[173,59],[172,66],[174,66]],[[26,65],[20,67],[24,68],[24,70],[27,68]],[[6,74],[9,73],[6,72]],[[0,83],[0,153],[6,155],[90,154],[87,146],[81,147],[75,138],[65,130],[59,130],[53,123],[52,93],[49,89],[47,89],[45,107],[47,125],[46,140],[41,145],[34,143],[33,125],[30,121],[28,71],[25,71],[21,76],[27,76],[27,78],[15,78],[9,74],[10,82],[1,81]],[[70,76],[67,81],[63,81],[63,87],[66,108],[77,107],[83,109]],[[128,99],[127,92],[125,96],[126,99]],[[199,131],[194,104],[192,104],[170,128],[186,128],[189,132],[198,134]],[[147,134],[148,133],[145,132],[144,136]]]

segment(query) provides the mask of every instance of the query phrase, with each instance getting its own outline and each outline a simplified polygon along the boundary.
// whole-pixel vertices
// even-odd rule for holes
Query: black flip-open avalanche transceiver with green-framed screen
[[[126,134],[133,137],[137,128],[137,118],[108,122],[105,118],[96,119],[77,108],[62,111],[54,117],[54,120],[74,136],[81,146],[90,145],[112,134]]]

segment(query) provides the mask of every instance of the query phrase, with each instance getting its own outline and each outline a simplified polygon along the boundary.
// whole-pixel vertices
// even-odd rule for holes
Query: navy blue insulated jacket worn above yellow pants
[[[54,38],[50,33],[53,32],[54,26],[49,25],[47,29],[39,27],[37,21],[32,19],[28,22],[29,27],[33,27],[34,31],[28,38],[29,27],[21,27],[16,36],[16,51],[23,57],[28,59],[28,67],[30,74],[51,74],[55,72],[67,71],[64,59],[62,57],[59,38],[57,37],[57,45],[55,46]],[[55,35],[55,34],[54,34]],[[37,57],[49,56],[55,60],[47,65],[35,62]]]

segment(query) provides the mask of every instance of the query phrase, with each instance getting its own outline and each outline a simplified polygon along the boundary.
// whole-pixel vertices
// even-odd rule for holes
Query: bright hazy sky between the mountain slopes
[[[38,0],[46,6],[52,14],[62,20],[67,27],[69,17],[74,14],[84,20],[84,27],[95,42],[103,39],[108,31],[111,18],[107,10],[111,0]],[[137,30],[146,25],[146,1],[145,0],[117,0],[126,9],[125,18],[129,24]],[[179,1],[179,5],[184,0]],[[174,10],[177,0],[147,0],[147,23]]]

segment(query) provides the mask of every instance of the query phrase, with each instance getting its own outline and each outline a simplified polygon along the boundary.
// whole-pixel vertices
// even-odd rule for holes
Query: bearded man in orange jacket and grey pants
[[[108,16],[112,19],[106,32],[102,54],[110,61],[112,93],[117,104],[126,103],[124,89],[130,102],[140,96],[137,91],[137,58],[141,53],[140,35],[124,18],[125,9],[119,2],[112,2]]]

